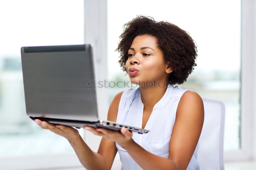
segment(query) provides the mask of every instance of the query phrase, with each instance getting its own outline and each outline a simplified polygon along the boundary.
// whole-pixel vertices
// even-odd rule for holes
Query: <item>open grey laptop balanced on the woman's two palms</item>
[[[149,131],[99,120],[90,44],[22,47],[21,58],[26,112],[32,120],[76,128]]]

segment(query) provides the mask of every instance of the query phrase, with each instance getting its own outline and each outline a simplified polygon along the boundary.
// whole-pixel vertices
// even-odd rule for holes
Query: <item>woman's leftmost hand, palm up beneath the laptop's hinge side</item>
[[[78,137],[80,137],[80,134],[77,129],[70,127],[70,126],[64,126],[60,124],[51,124],[45,121],[41,121],[39,119],[35,119],[34,122],[38,124],[43,129],[48,129],[57,135],[63,136],[66,138],[69,142],[75,141]]]

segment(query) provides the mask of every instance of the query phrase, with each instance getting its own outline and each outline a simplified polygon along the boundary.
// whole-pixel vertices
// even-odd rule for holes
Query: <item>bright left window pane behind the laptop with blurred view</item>
[[[1,1],[0,16],[0,156],[73,153],[26,115],[20,48],[84,44],[84,1]]]

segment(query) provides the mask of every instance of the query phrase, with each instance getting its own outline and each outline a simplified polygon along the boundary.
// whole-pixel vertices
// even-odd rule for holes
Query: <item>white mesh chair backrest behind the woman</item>
[[[204,103],[204,125],[199,138],[197,161],[200,169],[224,169],[223,142],[225,105],[219,101],[202,98]]]

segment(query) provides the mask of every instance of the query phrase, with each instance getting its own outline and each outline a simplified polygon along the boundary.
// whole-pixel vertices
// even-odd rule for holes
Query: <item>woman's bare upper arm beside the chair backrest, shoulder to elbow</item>
[[[186,91],[180,98],[170,139],[168,159],[178,169],[186,169],[196,149],[204,124],[204,103],[194,91]]]

